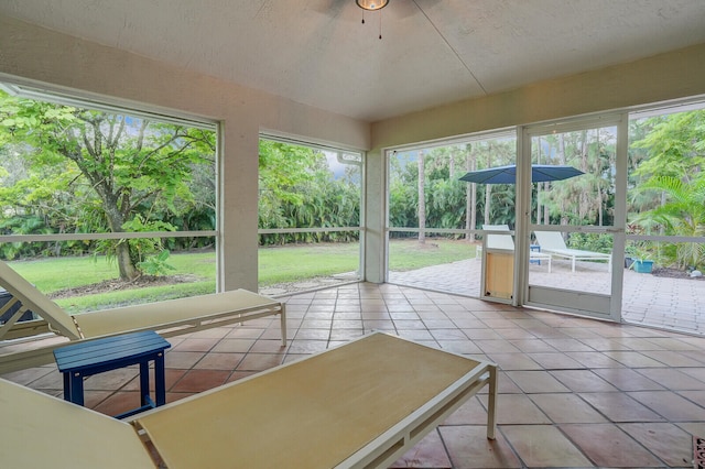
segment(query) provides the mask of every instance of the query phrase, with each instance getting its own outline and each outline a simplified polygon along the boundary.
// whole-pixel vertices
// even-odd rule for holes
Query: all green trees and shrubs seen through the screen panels
[[[705,111],[632,120],[629,126],[630,221],[649,234],[704,236]],[[470,228],[514,225],[514,185],[458,179],[471,168],[514,163],[513,139],[423,149],[423,200],[419,151],[389,157],[390,227],[419,228],[420,207],[425,207],[425,228],[464,229],[470,220]],[[532,221],[535,216],[539,223],[550,225],[614,222],[614,128],[541,135],[532,141],[532,151],[534,163],[568,164],[585,173],[533,184]],[[0,233],[214,229],[214,132],[0,95]],[[361,181],[361,164],[346,161],[343,153],[262,139],[259,228],[357,227]],[[358,239],[357,230],[310,231],[262,234],[259,242],[269,247]],[[611,250],[610,236],[573,233],[568,243]],[[164,274],[170,252],[214,244],[213,238],[1,243],[0,257],[91,253]],[[705,263],[705,247],[698,243],[651,250],[681,268]]]

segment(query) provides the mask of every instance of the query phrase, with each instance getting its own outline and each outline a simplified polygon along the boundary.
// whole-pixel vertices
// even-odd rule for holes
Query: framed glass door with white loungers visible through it
[[[524,129],[518,233],[530,254],[520,266],[525,304],[619,320],[625,130],[622,116]]]

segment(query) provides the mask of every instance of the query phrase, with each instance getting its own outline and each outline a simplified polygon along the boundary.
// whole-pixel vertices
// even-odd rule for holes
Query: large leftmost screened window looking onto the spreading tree
[[[0,259],[72,312],[214,293],[216,126],[7,85]]]

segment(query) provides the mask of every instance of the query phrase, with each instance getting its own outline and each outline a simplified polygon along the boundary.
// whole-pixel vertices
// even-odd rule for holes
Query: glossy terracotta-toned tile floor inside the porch
[[[705,338],[390,284],[285,299],[286,347],[276,318],[170,339],[167,402],[381,329],[501,368],[495,441],[480,394],[393,467],[692,467],[692,437],[705,435]],[[137,374],[87,379],[86,405],[132,408]],[[62,394],[55,366],[3,378]]]

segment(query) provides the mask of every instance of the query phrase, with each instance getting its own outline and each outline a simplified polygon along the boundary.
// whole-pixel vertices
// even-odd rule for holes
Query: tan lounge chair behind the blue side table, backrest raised
[[[14,306],[13,302],[21,303],[21,307],[12,318],[0,327],[0,339],[17,337],[14,326],[23,329],[24,332],[50,330],[74,341],[139,330],[155,330],[164,337],[171,337],[280,315],[282,343],[286,345],[284,303],[246,290],[69,315],[2,261],[0,261],[0,286],[13,296],[11,302],[0,308],[0,314]],[[26,310],[33,312],[43,320],[28,321],[26,325],[15,324]],[[65,343],[0,355],[0,373],[51,363],[52,351],[63,345]]]

